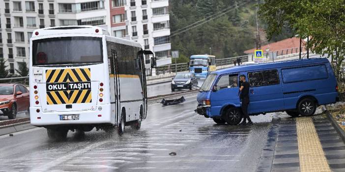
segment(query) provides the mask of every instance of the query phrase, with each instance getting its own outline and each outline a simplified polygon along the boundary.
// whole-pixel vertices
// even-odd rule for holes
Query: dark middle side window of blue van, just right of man
[[[275,85],[280,83],[277,70],[249,72],[248,81],[251,87]]]

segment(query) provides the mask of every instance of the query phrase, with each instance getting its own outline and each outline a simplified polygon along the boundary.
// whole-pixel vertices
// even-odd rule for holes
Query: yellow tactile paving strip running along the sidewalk
[[[331,172],[311,117],[296,119],[301,172]]]

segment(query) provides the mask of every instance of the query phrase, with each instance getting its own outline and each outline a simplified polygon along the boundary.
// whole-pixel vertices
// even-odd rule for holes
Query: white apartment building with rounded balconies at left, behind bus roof
[[[37,28],[97,25],[109,30],[109,0],[0,0],[0,58],[9,72],[29,64],[29,40]]]

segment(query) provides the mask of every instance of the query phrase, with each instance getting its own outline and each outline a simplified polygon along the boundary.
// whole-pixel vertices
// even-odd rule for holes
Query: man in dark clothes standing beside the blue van
[[[253,125],[252,120],[250,120],[248,115],[248,104],[249,104],[249,83],[246,81],[246,76],[242,74],[240,76],[240,80],[242,81],[240,90],[240,99],[242,101],[242,114],[243,114],[243,121],[239,125]],[[248,123],[246,123],[248,120]]]

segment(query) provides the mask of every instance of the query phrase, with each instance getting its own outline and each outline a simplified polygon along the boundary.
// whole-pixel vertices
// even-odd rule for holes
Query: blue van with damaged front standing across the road
[[[240,123],[239,76],[250,84],[249,115],[286,111],[311,116],[316,107],[335,103],[338,86],[326,58],[251,64],[210,73],[198,94],[196,112],[216,123]]]

